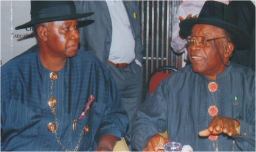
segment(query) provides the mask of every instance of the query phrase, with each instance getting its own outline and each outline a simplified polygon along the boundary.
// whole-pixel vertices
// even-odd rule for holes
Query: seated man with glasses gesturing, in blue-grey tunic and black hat
[[[158,85],[143,103],[132,128],[132,147],[158,151],[170,140],[193,151],[255,151],[255,72],[229,61],[249,35],[236,11],[205,2],[198,18],[184,19],[191,66]],[[158,133],[168,131],[168,139]]]

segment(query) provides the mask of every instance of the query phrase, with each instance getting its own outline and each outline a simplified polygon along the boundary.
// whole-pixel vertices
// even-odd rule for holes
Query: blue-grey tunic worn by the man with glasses
[[[218,150],[233,151],[235,140],[235,151],[255,151],[255,72],[235,63],[215,81],[185,66],[160,82],[135,117],[132,147],[141,151],[150,137],[167,130],[171,141],[190,145],[193,151],[215,151],[212,140],[198,135],[212,120],[208,108],[215,103],[210,82],[218,84],[213,92],[218,116],[237,119],[241,125],[241,136],[219,134]]]

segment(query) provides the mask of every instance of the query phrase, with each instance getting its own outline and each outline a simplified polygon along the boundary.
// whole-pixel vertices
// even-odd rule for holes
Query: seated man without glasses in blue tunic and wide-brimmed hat
[[[1,67],[1,151],[112,151],[129,123],[112,75],[77,50],[73,1],[31,1],[38,44]]]

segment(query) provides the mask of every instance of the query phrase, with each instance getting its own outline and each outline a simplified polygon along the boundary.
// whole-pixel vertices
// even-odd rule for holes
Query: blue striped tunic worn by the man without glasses
[[[55,123],[48,105],[51,72],[41,64],[37,45],[1,67],[1,151],[63,151],[47,129],[48,123]],[[78,151],[94,151],[105,134],[124,136],[127,112],[112,75],[98,58],[78,50],[57,73],[52,96],[57,100],[57,134],[64,147],[74,150],[85,126],[90,130],[82,135]],[[91,94],[93,106],[73,131],[73,120]]]

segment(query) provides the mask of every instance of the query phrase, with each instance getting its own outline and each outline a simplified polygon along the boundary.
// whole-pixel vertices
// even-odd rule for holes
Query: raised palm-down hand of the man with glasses
[[[199,131],[199,136],[207,137],[210,134],[225,133],[229,136],[236,136],[236,126],[240,125],[238,120],[228,117],[213,117],[206,130]]]

